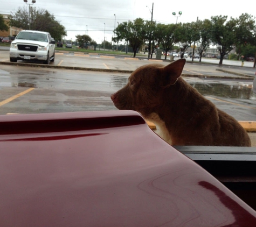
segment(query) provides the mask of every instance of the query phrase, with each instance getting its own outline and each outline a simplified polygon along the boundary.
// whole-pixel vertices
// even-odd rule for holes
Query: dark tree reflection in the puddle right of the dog
[[[230,85],[221,83],[192,83],[192,87],[196,88],[202,95],[213,95],[224,98],[239,98],[243,100],[255,100],[256,95],[252,92],[252,86],[247,85]]]

